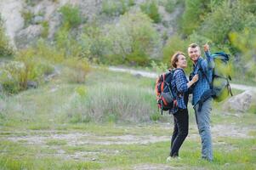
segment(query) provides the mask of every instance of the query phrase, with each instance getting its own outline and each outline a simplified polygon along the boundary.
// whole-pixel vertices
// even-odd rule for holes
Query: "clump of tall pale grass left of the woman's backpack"
[[[149,122],[155,99],[151,88],[120,82],[102,82],[89,87],[87,95],[77,96],[67,111],[77,122]]]

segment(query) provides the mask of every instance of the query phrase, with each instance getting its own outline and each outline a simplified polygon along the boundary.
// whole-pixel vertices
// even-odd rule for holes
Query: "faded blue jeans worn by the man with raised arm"
[[[198,111],[198,104],[196,104],[194,107],[196,113],[196,124],[202,141],[202,158],[208,161],[213,161],[213,147],[210,126],[212,100],[213,99],[206,100],[202,104],[201,111]]]

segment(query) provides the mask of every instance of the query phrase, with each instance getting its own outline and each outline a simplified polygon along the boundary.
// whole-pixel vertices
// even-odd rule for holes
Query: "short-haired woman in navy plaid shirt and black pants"
[[[195,75],[190,82],[185,77],[184,69],[187,67],[185,54],[181,52],[175,53],[172,56],[171,65],[174,68],[174,77],[171,82],[172,91],[178,105],[170,110],[170,113],[174,115],[174,133],[171,141],[170,156],[168,156],[167,161],[179,156],[179,148],[188,134],[188,88],[198,80],[198,75]]]

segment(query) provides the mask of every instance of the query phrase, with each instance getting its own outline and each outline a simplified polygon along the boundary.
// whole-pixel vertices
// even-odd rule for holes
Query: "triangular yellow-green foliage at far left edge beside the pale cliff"
[[[0,14],[0,57],[14,54],[13,48],[9,44],[9,38],[5,35],[3,20]]]

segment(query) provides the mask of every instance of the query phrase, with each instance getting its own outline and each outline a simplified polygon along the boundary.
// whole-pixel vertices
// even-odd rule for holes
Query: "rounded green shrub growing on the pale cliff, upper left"
[[[77,6],[65,4],[60,8],[60,13],[63,17],[63,25],[67,25],[69,28],[77,27],[82,23],[80,10]]]

